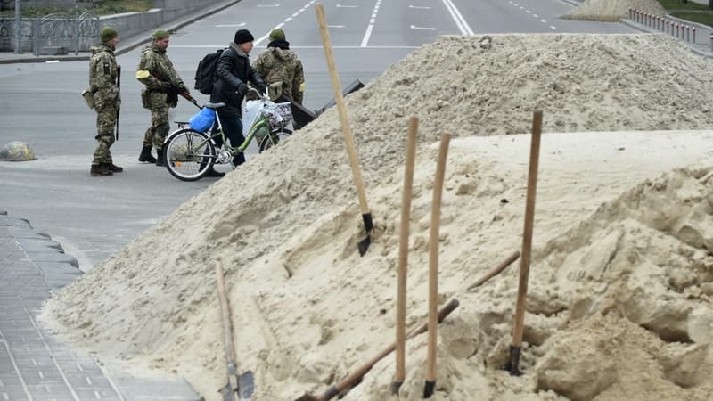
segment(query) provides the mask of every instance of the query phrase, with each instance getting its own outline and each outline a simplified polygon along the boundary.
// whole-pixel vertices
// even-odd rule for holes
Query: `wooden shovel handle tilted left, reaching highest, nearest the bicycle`
[[[356,186],[356,195],[359,198],[359,208],[362,211],[362,215],[369,215],[371,211],[369,210],[369,206],[366,204],[364,179],[362,178],[362,172],[359,168],[359,160],[356,159],[356,150],[354,148],[354,140],[351,135],[351,128],[349,127],[347,108],[344,106],[344,98],[341,94],[340,78],[337,73],[337,66],[334,63],[334,55],[332,54],[332,39],[329,36],[327,20],[324,17],[324,6],[322,4],[316,4],[315,10],[317,12],[317,21],[319,22],[319,33],[322,35],[322,42],[324,44],[324,57],[327,59],[327,68],[329,69],[330,78],[332,78],[334,102],[336,102],[337,110],[340,113],[341,133],[344,135],[344,142],[347,145],[351,174],[354,179],[354,185]]]

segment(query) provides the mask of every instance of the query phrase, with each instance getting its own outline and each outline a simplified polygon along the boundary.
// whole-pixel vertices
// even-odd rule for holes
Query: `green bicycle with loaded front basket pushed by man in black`
[[[166,168],[172,176],[183,181],[201,179],[214,164],[232,164],[233,157],[244,152],[253,138],[257,137],[258,150],[262,153],[292,134],[288,128],[292,122],[290,102],[272,102],[267,94],[260,94],[254,88],[250,88],[250,92],[258,94],[258,100],[245,102],[242,112],[245,140],[237,147],[225,137],[217,112],[216,132],[211,132],[212,128],[199,132],[188,127],[187,122],[177,122],[179,128],[168,135],[163,145]],[[206,102],[203,105],[214,112],[223,106],[225,103]],[[217,136],[223,140],[220,147],[214,141]]]

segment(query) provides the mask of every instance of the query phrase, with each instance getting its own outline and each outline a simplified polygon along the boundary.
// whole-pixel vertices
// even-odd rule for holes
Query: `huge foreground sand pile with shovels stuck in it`
[[[534,107],[545,110],[545,132],[710,129],[709,61],[663,36],[492,39],[440,37],[348,99],[377,225],[364,258],[328,110],[61,291],[45,324],[103,358],[184,375],[217,399],[225,364],[213,262],[222,258],[239,370],[256,372],[258,399],[323,390],[394,338],[401,166],[415,113],[409,325],[426,310],[434,141],[444,130],[463,137],[449,155],[440,236],[442,300],[462,306],[439,331],[435,399],[707,399],[710,169],[660,173],[709,161],[713,132],[545,135],[524,377],[496,369],[517,268],[463,291],[520,249],[529,137],[502,135],[528,132]],[[425,336],[407,349],[402,397],[416,399]],[[388,357],[347,399],[388,398],[393,372]]]

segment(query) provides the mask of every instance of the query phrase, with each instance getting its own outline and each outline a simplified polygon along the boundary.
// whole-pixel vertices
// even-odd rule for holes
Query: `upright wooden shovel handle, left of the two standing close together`
[[[398,244],[398,282],[396,316],[396,377],[402,382],[406,377],[406,277],[408,269],[408,231],[411,219],[411,199],[414,186],[414,164],[416,159],[416,135],[418,118],[411,116],[408,122],[406,141],[406,165],[404,166],[404,191],[401,196],[401,229]]]

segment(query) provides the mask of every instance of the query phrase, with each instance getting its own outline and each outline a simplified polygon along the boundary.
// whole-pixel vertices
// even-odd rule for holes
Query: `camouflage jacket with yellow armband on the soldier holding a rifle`
[[[188,92],[183,79],[178,76],[173,62],[168,59],[166,50],[161,50],[155,42],[143,46],[141,60],[136,67],[136,79],[146,87],[143,92],[151,92],[151,102],[166,102],[166,94],[171,86],[176,86]],[[172,107],[175,104],[172,104]]]

